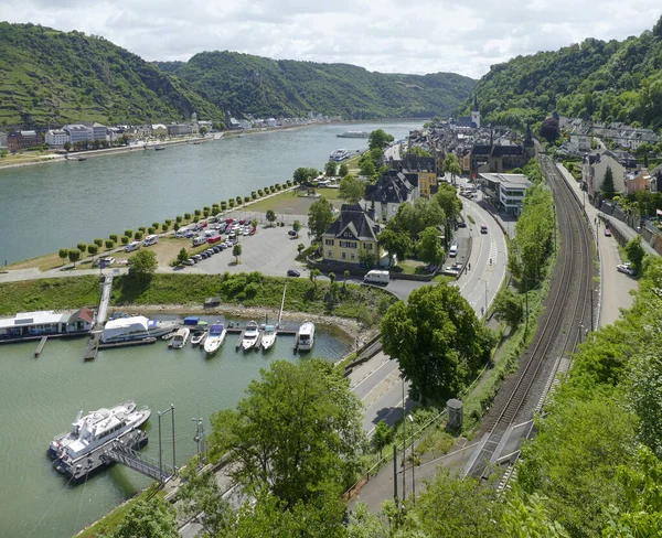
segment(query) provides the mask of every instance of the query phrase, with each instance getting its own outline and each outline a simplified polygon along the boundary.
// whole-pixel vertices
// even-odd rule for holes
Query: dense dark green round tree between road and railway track
[[[410,379],[414,399],[446,401],[489,361],[493,335],[460,291],[440,282],[413,291],[407,304],[388,308],[382,344]]]

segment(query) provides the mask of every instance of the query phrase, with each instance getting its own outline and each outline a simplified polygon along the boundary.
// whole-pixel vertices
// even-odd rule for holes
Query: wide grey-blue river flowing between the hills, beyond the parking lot
[[[366,139],[337,138],[345,130],[384,129],[397,140],[420,127],[328,123],[0,170],[0,265],[249,195],[291,179],[299,166],[322,169],[333,150],[367,146]]]

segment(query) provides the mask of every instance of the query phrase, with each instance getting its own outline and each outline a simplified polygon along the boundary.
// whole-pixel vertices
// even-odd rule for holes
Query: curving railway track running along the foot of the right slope
[[[466,475],[487,478],[491,474],[500,463],[515,420],[523,422],[532,418],[530,402],[541,399],[545,390],[542,379],[555,374],[559,359],[569,358],[590,327],[587,316],[592,311],[594,298],[592,237],[577,200],[555,164],[547,155],[540,155],[540,161],[554,194],[560,232],[557,267],[536,336],[513,381],[508,384],[514,387],[508,397],[495,398],[483,422],[487,433],[480,452],[470,462]]]

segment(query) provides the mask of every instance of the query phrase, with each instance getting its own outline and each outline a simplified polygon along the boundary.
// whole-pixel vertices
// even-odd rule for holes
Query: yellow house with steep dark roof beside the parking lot
[[[322,235],[324,261],[360,265],[365,255],[382,258],[380,225],[359,204],[343,204],[340,216]]]

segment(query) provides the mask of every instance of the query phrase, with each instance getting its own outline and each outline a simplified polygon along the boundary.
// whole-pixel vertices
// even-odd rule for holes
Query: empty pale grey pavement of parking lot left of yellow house
[[[259,271],[273,277],[285,277],[288,269],[297,269],[301,276],[307,276],[308,271],[302,263],[295,261],[298,256],[297,245],[303,244],[310,246],[308,239],[308,228],[299,233],[299,237],[288,235],[291,226],[268,227],[257,226],[253,236],[241,236],[242,256],[239,263],[236,263],[232,255],[232,247],[203,259],[194,266],[177,268],[178,272],[186,273],[206,273],[218,275],[228,272],[250,272]],[[226,236],[223,235],[225,238]],[[189,248],[191,239],[181,239],[182,246]],[[211,245],[210,245],[211,246]]]

